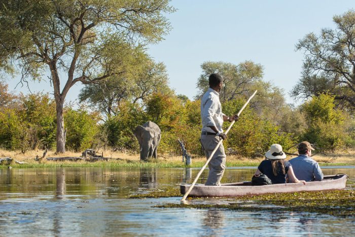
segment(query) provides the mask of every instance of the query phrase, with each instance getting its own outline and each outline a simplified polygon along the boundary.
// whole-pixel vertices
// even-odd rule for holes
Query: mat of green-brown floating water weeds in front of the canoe
[[[228,198],[228,204],[166,204],[158,208],[221,208],[243,211],[316,212],[341,217],[355,215],[355,191],[274,193]],[[278,208],[276,208],[278,207]]]

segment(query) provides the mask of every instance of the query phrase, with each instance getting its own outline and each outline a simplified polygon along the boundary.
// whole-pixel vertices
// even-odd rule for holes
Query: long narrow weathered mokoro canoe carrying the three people
[[[346,185],[345,174],[324,176],[322,181],[303,183],[271,184],[252,186],[252,182],[240,182],[222,184],[221,186],[205,186],[196,184],[188,196],[190,197],[230,197],[242,195],[258,195],[265,193],[300,192],[300,191],[322,191],[344,189]],[[180,192],[185,194],[191,184],[181,184]]]

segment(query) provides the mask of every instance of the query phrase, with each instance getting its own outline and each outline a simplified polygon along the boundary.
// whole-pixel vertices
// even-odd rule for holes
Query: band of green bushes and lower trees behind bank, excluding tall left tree
[[[208,75],[213,72],[225,78],[220,94],[225,114],[237,113],[247,97],[258,90],[228,133],[224,142],[227,153],[256,157],[274,143],[286,151],[295,151],[295,145],[303,140],[322,151],[354,147],[355,120],[348,110],[336,108],[334,95],[319,94],[294,107],[286,104],[278,87],[263,80],[260,64],[205,62],[201,67],[199,94],[194,100],[176,95],[168,87],[162,63],[151,64],[147,69],[151,75],[145,80],[115,78],[86,86],[79,95],[79,109],[64,106],[66,149],[139,151],[133,130],[151,120],[162,130],[158,153],[180,154],[180,139],[188,152],[201,155],[199,98],[207,90]],[[54,99],[44,93],[11,94],[7,85],[0,83],[0,101],[0,148],[24,153],[30,149],[55,149]],[[228,125],[226,122],[225,127]]]

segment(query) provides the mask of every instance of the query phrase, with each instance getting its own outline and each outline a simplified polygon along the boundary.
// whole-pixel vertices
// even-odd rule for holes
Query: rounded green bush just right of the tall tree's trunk
[[[67,109],[64,113],[66,121],[66,147],[74,151],[91,148],[98,133],[98,116],[86,110]]]

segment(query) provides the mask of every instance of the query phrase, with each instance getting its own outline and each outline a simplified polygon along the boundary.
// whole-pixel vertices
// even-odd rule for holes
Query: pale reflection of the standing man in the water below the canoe
[[[218,209],[208,209],[202,223],[206,230],[204,235],[218,236],[221,234],[224,226],[223,211]]]

